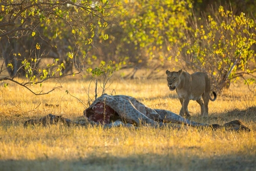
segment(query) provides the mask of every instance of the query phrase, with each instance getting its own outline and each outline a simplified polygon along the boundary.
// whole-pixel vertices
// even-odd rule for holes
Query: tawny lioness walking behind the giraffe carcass
[[[201,106],[201,115],[208,115],[209,99],[215,101],[217,95],[215,92],[214,99],[210,97],[210,79],[206,73],[196,72],[189,74],[182,70],[178,72],[170,72],[166,70],[167,82],[170,91],[176,90],[181,102],[181,116],[190,116],[187,105],[189,100],[196,100]],[[201,99],[203,98],[203,100]]]

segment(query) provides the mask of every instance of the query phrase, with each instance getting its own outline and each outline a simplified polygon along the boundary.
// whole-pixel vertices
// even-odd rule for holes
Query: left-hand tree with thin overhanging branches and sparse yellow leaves
[[[19,83],[21,86],[41,83],[68,72],[68,75],[81,73],[87,47],[92,44],[95,33],[108,26],[111,12],[118,6],[117,2],[103,0],[6,0],[0,3],[3,57],[0,80],[13,81],[24,75],[29,81]],[[108,38],[108,34],[100,36]],[[55,60],[47,62],[46,58]],[[5,70],[9,76],[4,76]]]

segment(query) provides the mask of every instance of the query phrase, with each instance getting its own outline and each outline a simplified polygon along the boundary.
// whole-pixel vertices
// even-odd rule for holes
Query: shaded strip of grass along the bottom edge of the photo
[[[255,170],[256,156],[198,158],[186,154],[129,157],[89,156],[80,160],[0,160],[1,170]]]

